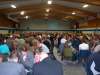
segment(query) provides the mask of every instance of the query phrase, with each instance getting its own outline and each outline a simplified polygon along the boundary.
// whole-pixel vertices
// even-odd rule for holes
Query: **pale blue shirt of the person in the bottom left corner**
[[[15,62],[0,63],[0,75],[26,75],[22,64]]]

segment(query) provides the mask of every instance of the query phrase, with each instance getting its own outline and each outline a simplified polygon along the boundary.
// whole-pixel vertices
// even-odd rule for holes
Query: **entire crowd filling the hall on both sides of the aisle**
[[[62,61],[65,48],[70,47],[73,62],[82,63],[87,75],[100,75],[100,35],[63,32],[1,37],[0,75],[63,75],[54,47]]]

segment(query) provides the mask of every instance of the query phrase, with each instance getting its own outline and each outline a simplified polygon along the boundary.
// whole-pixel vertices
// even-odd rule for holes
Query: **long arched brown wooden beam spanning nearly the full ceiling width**
[[[72,12],[72,11],[76,11],[76,12],[81,12],[83,14],[87,14],[87,15],[91,15],[91,16],[95,16],[96,13],[92,13],[92,12],[88,12],[88,11],[84,11],[84,10],[80,10],[80,9],[76,9],[76,8],[70,8],[70,7],[65,7],[65,6],[61,6],[61,5],[43,5],[43,4],[38,4],[38,5],[27,5],[27,6],[21,6],[21,7],[17,7],[16,9],[0,9],[0,13],[16,13],[16,12],[20,12],[22,10],[24,11],[35,11],[37,9],[46,9],[46,8],[51,8],[51,9],[60,9],[60,11],[66,11],[66,12]]]

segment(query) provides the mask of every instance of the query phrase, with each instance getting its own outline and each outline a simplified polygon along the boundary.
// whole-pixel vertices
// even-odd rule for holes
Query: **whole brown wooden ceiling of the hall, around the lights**
[[[59,19],[78,20],[81,18],[96,18],[100,13],[100,0],[52,0],[51,5],[47,0],[0,0],[0,14],[6,15],[9,19],[20,22],[29,19]],[[11,8],[11,4],[16,8]],[[88,4],[87,8],[83,8]],[[46,12],[46,9],[50,9]],[[24,11],[24,15],[20,12]],[[76,14],[72,14],[75,12]],[[46,15],[48,14],[48,15]]]

